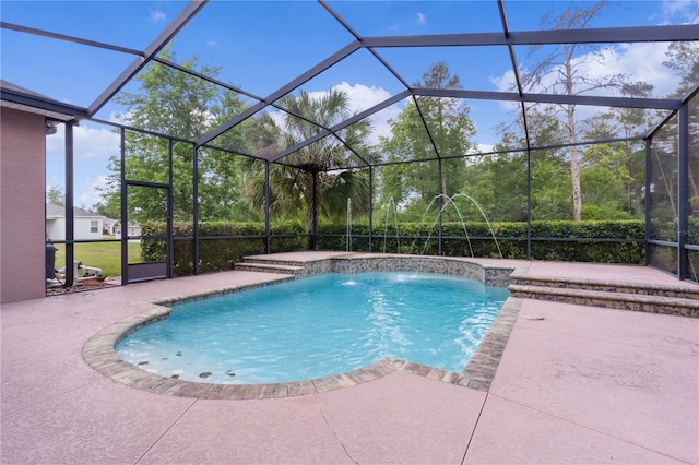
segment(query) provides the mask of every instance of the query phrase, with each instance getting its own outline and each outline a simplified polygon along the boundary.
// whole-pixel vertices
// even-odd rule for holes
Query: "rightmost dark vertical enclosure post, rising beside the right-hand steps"
[[[689,257],[685,246],[689,237],[689,104],[679,109],[677,144],[677,277],[689,276]]]

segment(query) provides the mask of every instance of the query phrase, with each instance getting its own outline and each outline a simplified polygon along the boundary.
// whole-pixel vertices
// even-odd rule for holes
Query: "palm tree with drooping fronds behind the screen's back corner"
[[[321,127],[331,128],[352,116],[347,94],[337,90],[330,90],[318,98],[301,91],[297,97],[283,98],[281,105],[289,110],[283,119],[265,112],[248,129],[247,135],[257,155],[269,158],[318,134]],[[281,159],[283,164],[270,166],[270,211],[296,215],[305,210],[307,248],[316,247],[319,216],[343,217],[347,199],[352,200],[353,213],[368,212],[368,172],[353,167],[378,160],[368,141],[370,132],[369,121],[362,120],[339,131],[337,138],[325,136]],[[252,177],[247,184],[248,198],[254,206],[264,204],[263,186],[263,176]]]

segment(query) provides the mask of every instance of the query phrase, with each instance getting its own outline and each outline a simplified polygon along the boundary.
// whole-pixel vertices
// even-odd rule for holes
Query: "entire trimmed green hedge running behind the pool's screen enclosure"
[[[699,224],[699,223],[697,223]],[[695,222],[691,228],[697,226]],[[174,271],[176,275],[193,273],[193,231],[191,223],[173,225]],[[442,223],[442,254],[448,257],[499,257],[493,234],[506,259],[526,259],[526,223]],[[671,225],[667,225],[671,227]],[[164,236],[165,223],[143,226],[143,236]],[[271,227],[271,252],[305,250],[304,227],[299,222],[286,222]],[[346,250],[345,224],[320,224],[317,249]],[[351,250],[369,250],[367,223],[352,224]],[[199,271],[229,270],[242,257],[264,252],[264,224],[237,222],[202,222],[200,224]],[[371,238],[374,252],[438,254],[438,228],[434,223],[402,223],[375,226]],[[694,236],[694,235],[691,235]],[[215,239],[216,237],[222,237]],[[605,222],[533,222],[532,259],[602,263],[644,263],[644,223],[641,220]],[[543,239],[536,239],[543,238]],[[550,240],[556,238],[558,240]],[[595,239],[617,239],[606,241]],[[624,241],[627,242],[624,242]],[[163,260],[166,241],[143,239],[144,261]],[[473,253],[472,253],[473,251]]]

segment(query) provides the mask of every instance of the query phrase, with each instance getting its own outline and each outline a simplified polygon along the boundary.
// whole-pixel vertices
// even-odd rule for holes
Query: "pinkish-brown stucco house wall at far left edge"
[[[0,109],[0,302],[46,296],[45,121]]]

